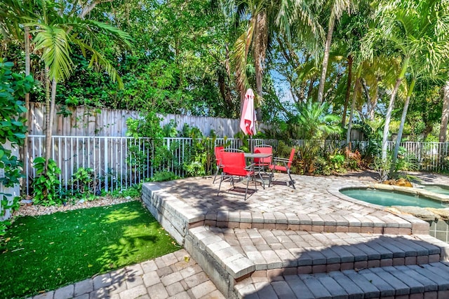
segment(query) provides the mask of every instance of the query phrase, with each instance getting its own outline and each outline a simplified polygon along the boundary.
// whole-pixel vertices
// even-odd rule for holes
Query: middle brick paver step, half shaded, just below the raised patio
[[[192,228],[189,235],[236,281],[248,274],[269,277],[435,263],[447,249],[447,244],[424,235],[207,226]]]

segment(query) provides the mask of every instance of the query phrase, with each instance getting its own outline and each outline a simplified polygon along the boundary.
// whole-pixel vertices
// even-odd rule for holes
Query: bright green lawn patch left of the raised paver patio
[[[140,201],[18,218],[0,240],[0,298],[20,298],[179,249]]]

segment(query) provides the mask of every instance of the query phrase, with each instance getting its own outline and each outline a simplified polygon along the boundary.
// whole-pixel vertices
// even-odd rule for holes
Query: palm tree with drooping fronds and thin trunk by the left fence
[[[95,1],[94,3],[98,3]],[[78,46],[81,53],[91,53],[91,65],[98,64],[105,68],[112,81],[117,81],[120,87],[123,82],[118,76],[112,64],[95,49],[98,43],[98,34],[101,32],[109,34],[117,43],[130,46],[130,36],[110,25],[93,20],[83,20],[79,16],[60,15],[60,12],[69,11],[65,2],[55,3],[42,1],[39,3],[39,15],[25,26],[32,28],[34,34],[35,51],[41,53],[46,74],[46,149],[45,158],[48,162],[51,153],[51,134],[53,128],[53,117],[55,112],[56,88],[60,81],[69,78],[74,69],[71,59],[72,46]],[[81,9],[81,16],[95,6]],[[51,94],[50,94],[51,85]]]

